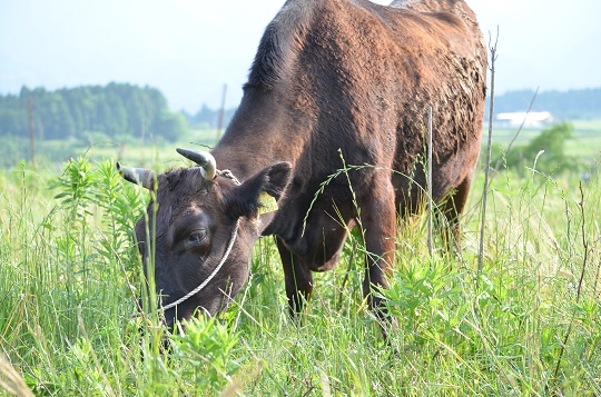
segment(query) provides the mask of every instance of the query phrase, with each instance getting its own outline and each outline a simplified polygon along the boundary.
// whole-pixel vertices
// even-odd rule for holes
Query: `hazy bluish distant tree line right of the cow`
[[[526,111],[534,92],[534,90],[519,90],[495,96],[494,110],[496,113]],[[532,111],[549,111],[563,120],[601,118],[601,88],[541,91],[534,99]]]

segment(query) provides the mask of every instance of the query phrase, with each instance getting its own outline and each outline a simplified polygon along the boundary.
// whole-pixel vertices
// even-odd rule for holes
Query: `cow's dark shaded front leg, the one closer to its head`
[[[290,316],[295,318],[303,311],[303,304],[311,298],[313,275],[302,259],[294,256],[279,237],[276,237],[276,242],[284,267],[284,281]]]

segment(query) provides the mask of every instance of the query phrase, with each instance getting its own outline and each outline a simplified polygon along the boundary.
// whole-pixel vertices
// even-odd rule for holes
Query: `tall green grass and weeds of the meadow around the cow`
[[[160,167],[177,156],[148,158]],[[134,156],[126,161],[137,165]],[[428,257],[425,217],[403,224],[385,294],[386,343],[361,296],[355,236],[336,270],[315,275],[302,325],[287,316],[277,250],[265,238],[248,285],[224,315],[166,336],[152,316],[131,318],[132,292],[142,289],[129,230],[144,193],[119,180],[112,161],[7,170],[0,395],[600,395],[599,173],[582,196],[568,179],[528,175],[493,180],[480,276],[481,180],[460,257],[441,249]],[[161,338],[171,340],[168,355]]]

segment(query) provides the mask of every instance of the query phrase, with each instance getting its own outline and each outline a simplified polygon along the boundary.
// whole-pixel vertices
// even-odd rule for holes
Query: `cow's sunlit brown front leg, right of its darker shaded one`
[[[394,264],[396,237],[396,207],[394,189],[390,179],[381,178],[361,206],[361,227],[367,250],[363,295],[378,318],[385,309],[375,290],[386,288]]]

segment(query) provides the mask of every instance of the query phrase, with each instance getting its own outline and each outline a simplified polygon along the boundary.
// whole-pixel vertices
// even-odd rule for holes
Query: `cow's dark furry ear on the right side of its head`
[[[226,197],[227,214],[234,219],[277,210],[277,200],[290,179],[289,162],[276,162],[246,180]]]

